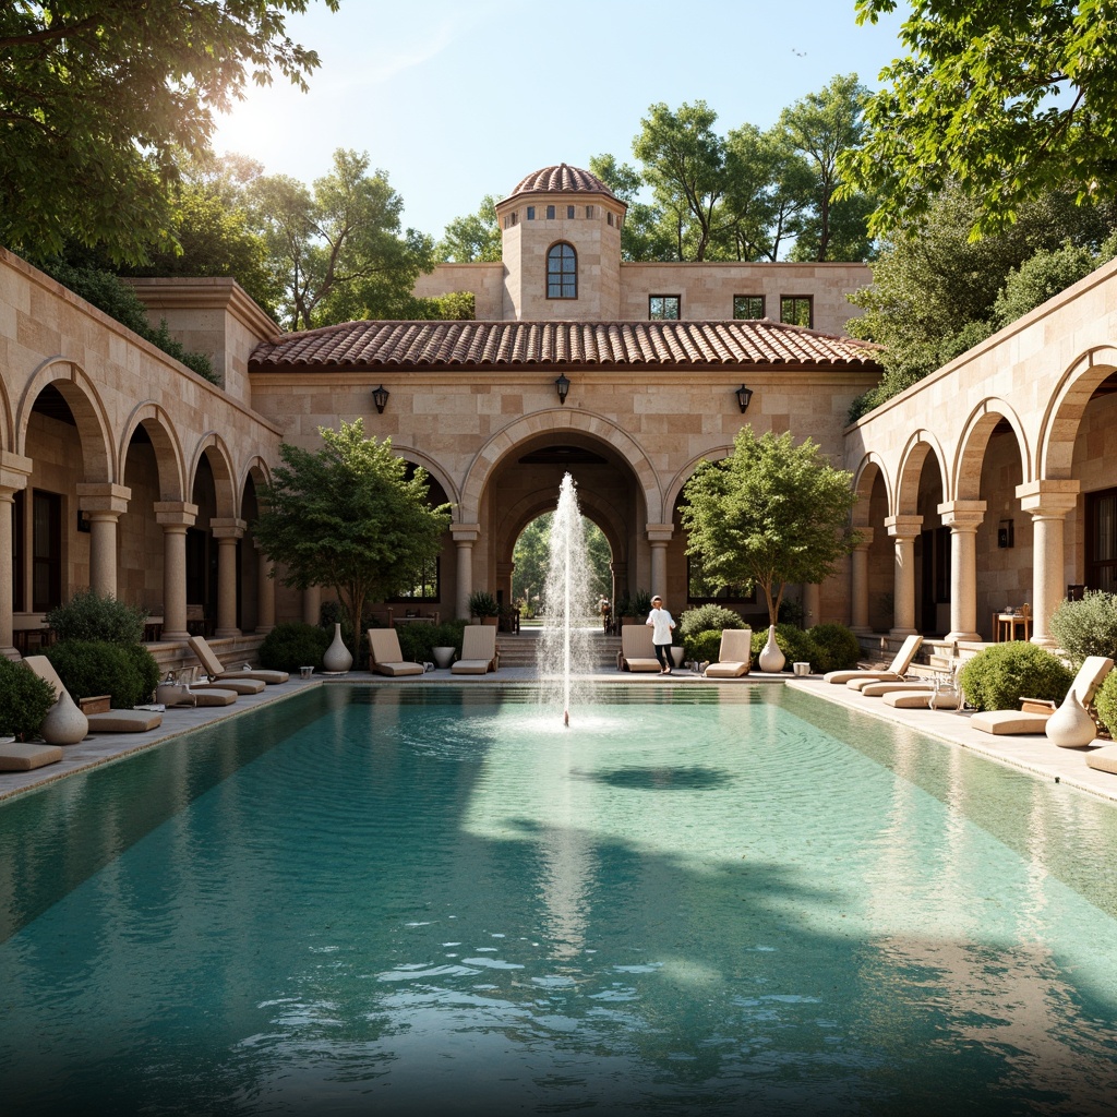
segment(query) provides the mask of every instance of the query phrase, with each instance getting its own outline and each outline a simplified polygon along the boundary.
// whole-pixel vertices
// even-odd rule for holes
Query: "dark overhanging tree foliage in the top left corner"
[[[324,0],[337,10],[338,0]],[[311,0],[46,0],[0,6],[0,242],[67,241],[141,264],[172,244],[168,185],[248,80],[318,65],[285,30]]]

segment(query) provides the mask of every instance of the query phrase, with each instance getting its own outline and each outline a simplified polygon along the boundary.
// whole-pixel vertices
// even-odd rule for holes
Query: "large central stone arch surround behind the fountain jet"
[[[577,408],[552,408],[536,411],[508,423],[498,430],[477,451],[466,470],[461,486],[461,503],[458,505],[456,523],[476,523],[479,516],[481,494],[493,470],[527,439],[546,433],[577,433],[608,443],[636,475],[647,509],[649,523],[662,523],[663,499],[659,478],[647,454],[640,445],[617,423],[610,422],[590,411]]]

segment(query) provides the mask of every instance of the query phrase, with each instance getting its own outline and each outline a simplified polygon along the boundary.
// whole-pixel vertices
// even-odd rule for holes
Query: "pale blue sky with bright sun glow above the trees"
[[[438,237],[541,166],[632,162],[655,102],[704,99],[724,132],[770,126],[836,74],[875,88],[900,22],[858,27],[853,0],[316,3],[288,20],[322,58],[311,92],[254,88],[214,147],[303,182],[337,147],[366,151],[403,195],[404,223]]]

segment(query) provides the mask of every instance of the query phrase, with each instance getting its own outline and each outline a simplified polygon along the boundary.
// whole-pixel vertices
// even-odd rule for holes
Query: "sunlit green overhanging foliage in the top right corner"
[[[875,22],[896,0],[857,0]],[[970,233],[1002,230],[1025,202],[1069,190],[1117,197],[1114,0],[915,0],[843,155],[850,188],[879,194],[875,235],[925,212],[956,183],[976,200]]]

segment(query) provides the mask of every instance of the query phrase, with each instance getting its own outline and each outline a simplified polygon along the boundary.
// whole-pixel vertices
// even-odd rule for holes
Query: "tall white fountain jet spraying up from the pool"
[[[551,523],[551,556],[543,590],[545,621],[537,662],[542,700],[561,704],[567,725],[571,704],[580,697],[579,691],[589,688],[586,676],[593,666],[589,570],[574,478],[565,474]]]

